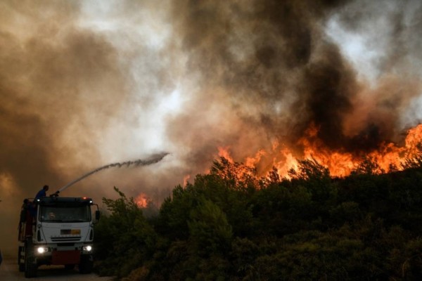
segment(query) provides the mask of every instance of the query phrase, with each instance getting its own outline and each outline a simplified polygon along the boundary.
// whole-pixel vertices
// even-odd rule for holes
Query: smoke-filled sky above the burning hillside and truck
[[[0,2],[0,236],[23,198],[63,192],[158,204],[206,173],[298,141],[400,143],[422,119],[421,1]],[[267,169],[277,155],[264,155]],[[13,248],[14,251],[14,248]]]

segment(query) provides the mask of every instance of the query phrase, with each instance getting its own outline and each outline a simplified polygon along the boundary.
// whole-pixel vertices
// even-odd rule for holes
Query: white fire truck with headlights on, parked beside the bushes
[[[98,204],[91,198],[25,199],[18,232],[19,270],[27,278],[36,277],[42,265],[77,266],[79,273],[91,273],[93,226],[99,218]]]

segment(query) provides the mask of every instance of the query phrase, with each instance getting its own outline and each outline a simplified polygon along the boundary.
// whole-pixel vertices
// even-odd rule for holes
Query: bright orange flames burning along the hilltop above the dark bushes
[[[326,166],[331,176],[344,177],[349,175],[357,166],[362,163],[362,157],[357,157],[349,152],[333,151],[327,148],[317,136],[317,128],[310,126],[306,135],[300,139],[299,144],[303,146],[303,159],[315,159],[319,164]],[[377,150],[366,153],[366,158],[371,159],[378,165],[378,174],[390,171],[392,167],[400,170],[405,159],[414,157],[418,153],[417,145],[422,142],[422,124],[407,131],[404,146],[395,143],[383,143]],[[229,147],[218,148],[219,156],[234,163]],[[275,155],[272,165],[277,169],[280,176],[288,177],[290,169],[298,168],[298,155],[278,142],[272,144],[272,151],[259,150],[255,157],[246,157],[245,166],[256,167],[262,161],[264,155]],[[267,174],[268,171],[262,171]]]

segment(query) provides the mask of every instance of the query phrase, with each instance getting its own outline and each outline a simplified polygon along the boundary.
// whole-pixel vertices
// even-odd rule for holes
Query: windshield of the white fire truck
[[[91,221],[89,206],[40,206],[39,220],[45,222],[87,222]]]

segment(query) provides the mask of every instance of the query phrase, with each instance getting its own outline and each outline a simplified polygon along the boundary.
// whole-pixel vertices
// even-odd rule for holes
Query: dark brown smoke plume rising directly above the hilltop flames
[[[326,148],[355,155],[402,138],[407,128],[400,118],[421,89],[414,83],[420,83],[421,74],[421,55],[414,48],[421,41],[417,36],[421,13],[405,15],[421,11],[420,2],[246,2],[177,1],[174,5],[177,36],[189,54],[189,73],[199,72],[203,86],[190,106],[198,109],[189,112],[198,120],[188,123],[195,129],[188,135],[181,133],[179,128],[188,117],[179,116],[169,126],[174,142],[189,143],[203,134],[201,116],[213,114],[224,117],[212,124],[216,133],[207,141],[228,146],[235,159],[253,155],[259,148],[269,151],[272,141],[295,148],[300,156],[300,139],[310,126],[318,129],[315,138]],[[359,79],[350,60],[326,35],[334,17],[347,31],[373,37],[384,34],[386,46],[369,40],[374,51],[385,52],[374,62],[376,87]],[[416,69],[407,64],[409,58],[416,58]],[[397,74],[402,70],[406,74]],[[203,103],[229,107],[231,112],[203,109]],[[203,154],[212,155],[215,147],[209,142],[194,145],[192,157],[198,162]]]

